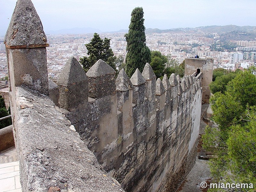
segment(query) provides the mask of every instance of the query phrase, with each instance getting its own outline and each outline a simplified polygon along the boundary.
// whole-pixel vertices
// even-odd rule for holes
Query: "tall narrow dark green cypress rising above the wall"
[[[146,63],[150,63],[150,50],[146,46],[146,35],[143,19],[142,7],[136,7],[132,10],[131,23],[128,34],[125,34],[126,46],[126,74],[131,77],[136,68],[143,70]]]

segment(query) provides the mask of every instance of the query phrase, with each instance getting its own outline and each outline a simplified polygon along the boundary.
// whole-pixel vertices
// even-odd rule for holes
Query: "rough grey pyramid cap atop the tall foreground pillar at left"
[[[31,0],[18,0],[4,37],[7,48],[48,47],[43,25]]]

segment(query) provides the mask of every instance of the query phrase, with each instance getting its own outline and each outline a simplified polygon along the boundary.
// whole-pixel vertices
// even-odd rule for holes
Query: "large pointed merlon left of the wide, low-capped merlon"
[[[75,57],[70,57],[57,81],[61,108],[72,110],[88,102],[88,77]]]

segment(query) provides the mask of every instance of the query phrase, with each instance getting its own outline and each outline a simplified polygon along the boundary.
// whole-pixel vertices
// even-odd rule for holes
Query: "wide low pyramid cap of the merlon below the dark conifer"
[[[88,77],[99,77],[114,74],[116,71],[105,61],[99,59],[86,73]]]

